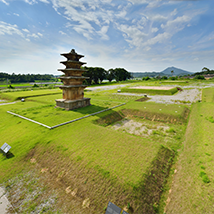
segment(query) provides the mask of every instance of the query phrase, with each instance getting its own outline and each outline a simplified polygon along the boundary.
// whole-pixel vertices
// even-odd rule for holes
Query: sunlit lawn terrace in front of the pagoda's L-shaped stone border
[[[36,102],[32,103],[41,105]],[[95,184],[90,185],[88,186],[90,192],[84,195],[84,197],[90,196],[93,199],[91,202],[92,211],[89,210],[89,213],[100,212],[109,200],[117,200],[117,205],[121,207],[126,206],[128,202],[134,204],[134,198],[131,199],[130,196],[127,199],[128,196],[123,191],[132,189],[142,180],[143,173],[149,168],[161,148],[159,143],[151,142],[149,139],[139,139],[126,133],[118,133],[93,124],[93,121],[101,117],[102,114],[48,130],[6,113],[8,108],[19,108],[21,105],[29,105],[25,108],[31,108],[32,103],[30,101],[20,102],[14,104],[13,107],[1,106],[0,108],[0,145],[7,142],[12,147],[11,153],[14,155],[9,159],[2,154],[0,155],[1,182],[15,177],[24,169],[28,169],[29,159],[26,157],[34,148],[39,147],[42,151],[39,158],[50,158],[49,152],[46,153],[46,151],[50,151],[53,157],[58,154],[65,163],[71,161],[72,165],[77,166],[78,171],[82,172],[82,176],[84,175],[81,183],[78,183],[78,189],[83,188],[81,185],[86,185],[84,181],[87,181],[88,185],[93,184],[94,180],[96,181],[99,188]],[[52,158],[52,161],[53,159],[56,161],[55,158]],[[57,160],[60,161],[60,159]],[[52,166],[51,161],[46,167],[50,166]],[[60,166],[57,167],[60,169]],[[75,175],[73,173],[77,172],[72,171],[71,173]],[[96,179],[97,176],[99,179]],[[101,185],[103,179],[106,182]],[[113,186],[114,193],[110,194]],[[121,187],[123,188],[121,189]],[[97,188],[101,191],[100,195],[96,195]],[[120,189],[120,199],[118,198],[119,193],[116,193],[117,188]],[[106,191],[108,194],[102,195]],[[125,198],[122,197],[124,194]]]

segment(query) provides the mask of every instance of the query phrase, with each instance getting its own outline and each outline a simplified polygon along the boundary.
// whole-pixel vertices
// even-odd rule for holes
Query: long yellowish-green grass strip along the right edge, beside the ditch
[[[204,89],[203,102],[192,107],[166,213],[213,213],[213,94],[213,88]]]

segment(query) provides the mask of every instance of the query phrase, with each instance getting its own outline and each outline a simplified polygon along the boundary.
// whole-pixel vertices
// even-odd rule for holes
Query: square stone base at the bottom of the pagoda
[[[91,98],[83,98],[81,100],[65,100],[65,99],[57,99],[56,107],[63,108],[67,111],[77,108],[82,108],[86,106],[90,106]]]

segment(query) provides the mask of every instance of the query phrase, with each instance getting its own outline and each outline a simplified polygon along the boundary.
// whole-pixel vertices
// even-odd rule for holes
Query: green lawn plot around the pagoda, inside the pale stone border
[[[40,92],[39,95],[40,94],[42,93]],[[72,111],[65,111],[61,108],[55,108],[55,99],[59,99],[62,96],[61,94],[47,96],[35,95],[27,98],[25,102],[18,102],[16,105],[8,106],[7,109],[45,125],[54,126],[124,103],[123,101],[117,99],[110,100],[109,96],[105,94],[101,96],[98,94],[89,93],[89,96],[91,97],[91,106]]]

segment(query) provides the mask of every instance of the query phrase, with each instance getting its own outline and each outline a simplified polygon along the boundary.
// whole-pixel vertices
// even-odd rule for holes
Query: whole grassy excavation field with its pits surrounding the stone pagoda
[[[105,213],[111,201],[128,213],[163,213],[164,209],[173,213],[175,206],[174,213],[182,213],[188,210],[190,202],[185,197],[191,191],[203,193],[191,195],[196,205],[203,195],[211,195],[212,89],[204,89],[203,102],[192,107],[139,102],[138,95],[117,95],[117,88],[107,87],[85,92],[91,106],[64,111],[55,108],[55,99],[61,96],[55,89],[0,94],[0,99],[16,101],[0,106],[0,145],[7,142],[12,146],[8,158],[0,155],[0,183],[16,212]],[[126,104],[53,130],[7,113],[53,126],[122,103]],[[203,130],[210,130],[210,134],[204,136]],[[182,176],[181,166],[190,168]],[[189,179],[196,184],[196,188],[186,187],[185,197],[171,185],[175,168],[178,172],[173,184],[177,182],[183,189]],[[203,181],[206,176],[207,183]],[[209,200],[206,202],[211,206],[213,200]],[[189,211],[204,210],[197,207]]]

